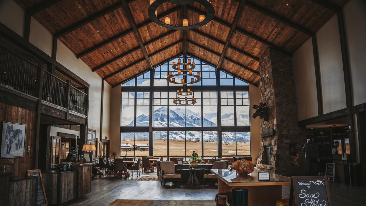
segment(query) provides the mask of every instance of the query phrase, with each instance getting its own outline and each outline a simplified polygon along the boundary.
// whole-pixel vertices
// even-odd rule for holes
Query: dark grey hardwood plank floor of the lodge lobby
[[[142,176],[156,176],[156,173],[141,173]],[[67,205],[105,206],[116,199],[164,199],[164,200],[195,200],[214,199],[217,185],[184,185],[173,183],[160,185],[159,181],[136,181],[140,176],[127,179],[113,176],[94,177],[91,181],[91,192]],[[329,183],[333,206],[366,205],[366,188],[351,187],[339,183]],[[282,189],[283,197],[290,195],[290,186]]]

